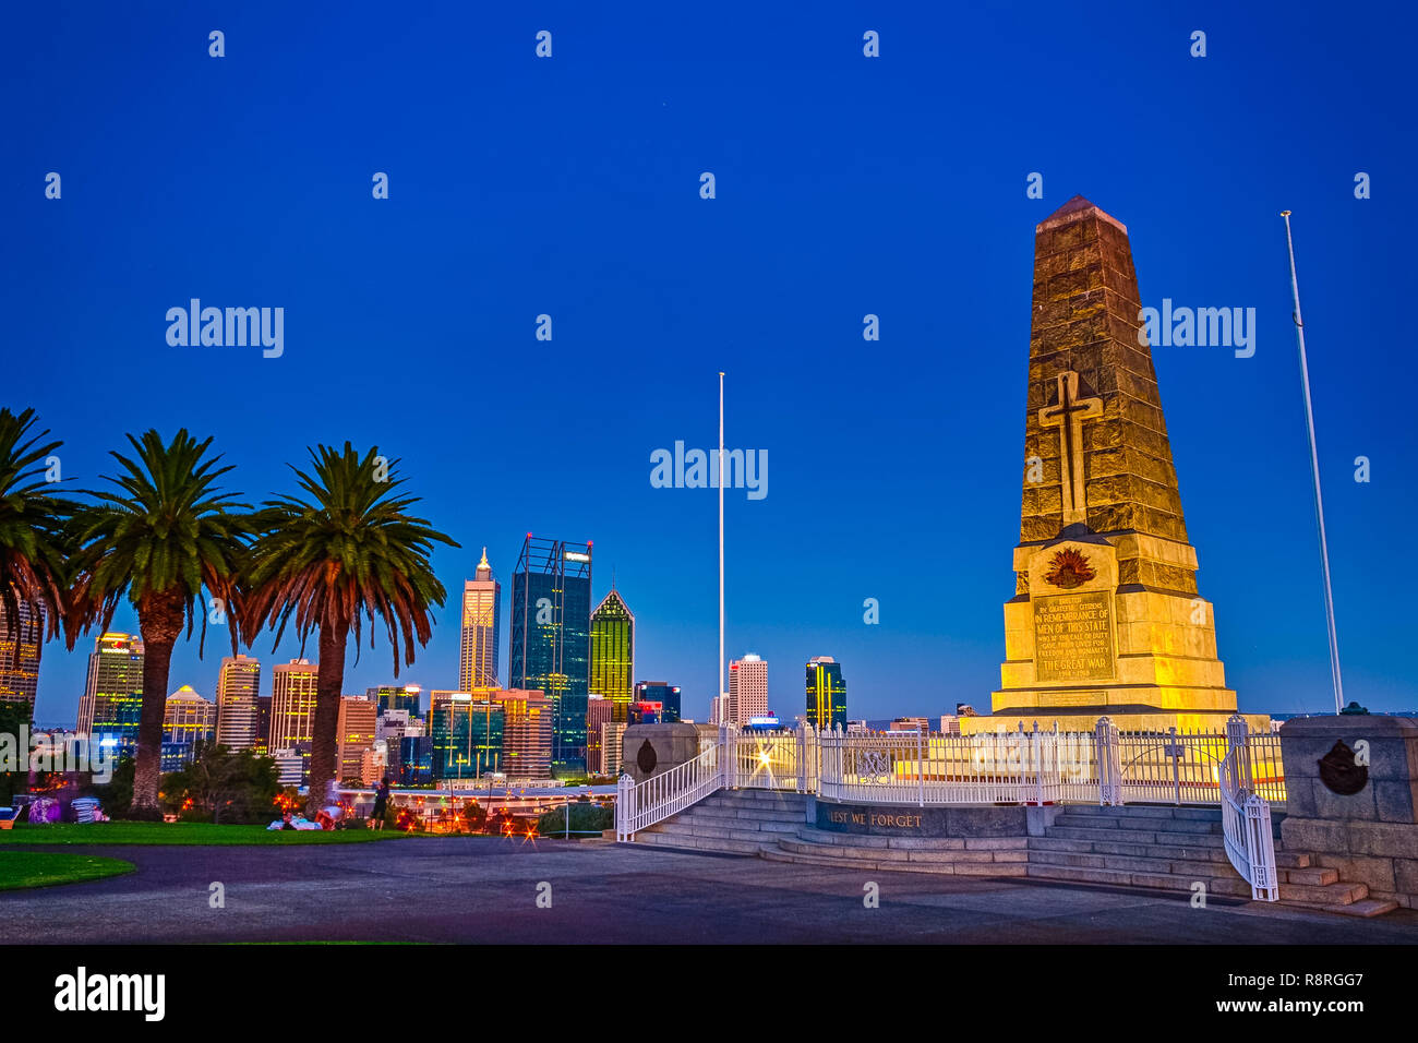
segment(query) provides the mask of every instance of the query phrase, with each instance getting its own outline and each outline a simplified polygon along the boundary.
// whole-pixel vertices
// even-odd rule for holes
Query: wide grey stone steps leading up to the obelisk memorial
[[[905,870],[976,877],[1028,877],[1251,897],[1227,859],[1219,807],[1065,805],[1042,836],[886,837],[837,833],[807,824],[808,798],[766,789],[719,790],[674,819],[651,826],[635,843],[757,856],[771,861],[842,868]],[[1275,822],[1280,901],[1356,917],[1375,917],[1397,903],[1368,897],[1309,854],[1283,850]]]

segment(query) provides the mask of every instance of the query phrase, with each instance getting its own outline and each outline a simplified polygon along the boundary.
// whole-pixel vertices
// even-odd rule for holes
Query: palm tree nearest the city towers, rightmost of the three
[[[311,786],[306,815],[325,803],[336,778],[340,691],[345,687],[345,646],[354,633],[354,657],[363,622],[374,647],[374,620],[383,620],[398,677],[400,637],[404,663],[414,663],[414,640],[432,637],[432,607],[444,603],[442,583],[428,555],[434,543],[458,546],[407,514],[418,497],[397,494],[398,461],[386,463],[379,448],[363,457],[350,443],[343,451],[329,446],[309,450],[311,473],[291,467],[305,492],[267,501],[257,515],[255,541],[244,569],[247,600],[241,613],[247,644],[264,627],[281,643],[294,622],[301,651],[319,630],[319,673],[315,721],[311,728]]]

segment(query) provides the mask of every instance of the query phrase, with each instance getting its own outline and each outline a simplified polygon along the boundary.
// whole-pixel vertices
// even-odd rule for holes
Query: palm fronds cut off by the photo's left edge
[[[18,416],[0,409],[0,643],[10,647],[11,668],[20,664],[21,606],[38,622],[41,641],[60,633],[65,524],[75,509],[48,481],[50,457],[64,443],[43,443],[50,431],[34,427],[33,409]]]

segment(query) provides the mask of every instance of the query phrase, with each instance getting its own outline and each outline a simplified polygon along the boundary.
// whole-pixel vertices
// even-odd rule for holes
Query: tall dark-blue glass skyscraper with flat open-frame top
[[[509,685],[546,692],[552,766],[586,771],[586,695],[591,666],[591,543],[530,532],[512,576]],[[510,718],[509,718],[510,727]]]

